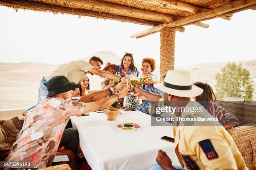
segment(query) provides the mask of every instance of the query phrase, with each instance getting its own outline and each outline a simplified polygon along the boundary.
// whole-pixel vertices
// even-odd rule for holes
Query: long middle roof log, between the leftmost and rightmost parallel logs
[[[151,18],[155,18],[163,23],[181,18],[181,17],[169,15],[169,14],[157,13],[157,12],[148,11],[148,10],[141,10],[138,8],[127,7],[127,6],[108,3],[108,2],[101,2],[98,0],[61,0],[61,1],[84,5],[87,7],[96,7],[96,8],[100,8],[100,9],[104,9],[104,10],[113,10],[113,11],[120,12],[120,13],[131,13],[131,14],[136,14],[136,15],[141,15],[141,16],[148,16]],[[195,23],[194,25],[197,25],[202,28],[209,27],[209,25],[204,24],[204,23]]]

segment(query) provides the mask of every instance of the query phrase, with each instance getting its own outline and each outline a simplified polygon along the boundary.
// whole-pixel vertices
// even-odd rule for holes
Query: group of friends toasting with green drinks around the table
[[[247,169],[232,137],[225,130],[238,125],[239,120],[215,102],[210,85],[203,82],[193,84],[190,73],[185,70],[169,70],[161,82],[152,73],[156,69],[155,60],[147,57],[141,62],[144,82],[138,81],[138,85],[131,89],[127,86],[131,81],[128,75],[139,75],[133,54],[125,53],[120,65],[107,63],[100,70],[102,65],[100,57],[94,56],[88,62],[76,60],[60,65],[43,77],[38,88],[38,104],[23,113],[26,116],[23,128],[6,161],[23,160],[30,162],[33,168],[44,168],[52,164],[55,155],[68,155],[69,165],[75,170],[79,136],[69,117],[109,106],[123,108],[123,97],[133,91],[143,100],[138,110],[145,114],[148,114],[152,101],[164,101],[166,105],[179,102],[186,106],[195,100],[199,103],[209,101],[202,114],[220,118],[217,126],[181,126],[177,122],[173,126],[175,153],[182,167],[172,165],[168,155],[159,150],[158,164],[151,170]],[[87,74],[105,78],[100,91],[90,91],[93,82]],[[175,112],[175,115],[181,116],[182,112]],[[65,149],[59,150],[63,146]]]

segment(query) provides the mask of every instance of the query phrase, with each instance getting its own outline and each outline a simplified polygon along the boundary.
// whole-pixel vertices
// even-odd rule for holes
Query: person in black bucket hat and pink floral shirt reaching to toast
[[[76,84],[69,82],[65,76],[56,76],[47,82],[47,97],[50,99],[39,102],[27,113],[23,128],[6,161],[26,160],[31,163],[31,168],[44,168],[51,165],[58,148],[62,146],[71,151],[72,155],[76,155],[78,132],[74,128],[64,130],[69,117],[102,110],[126,96],[131,90],[126,87],[111,97],[84,103],[70,99],[74,87]],[[71,167],[76,169],[75,159]]]

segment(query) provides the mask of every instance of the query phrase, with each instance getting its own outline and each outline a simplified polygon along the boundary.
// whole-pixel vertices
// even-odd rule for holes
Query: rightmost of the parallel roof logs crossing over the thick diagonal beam
[[[191,5],[189,3],[182,2],[179,0],[140,0],[140,1],[150,3],[150,4],[160,5],[163,7],[171,7],[177,10],[187,11],[189,13],[199,13],[199,12],[208,10],[208,8]],[[228,15],[227,17],[231,17],[231,16]],[[227,18],[227,17],[223,16],[220,18],[223,18],[225,20],[230,20],[230,18]]]

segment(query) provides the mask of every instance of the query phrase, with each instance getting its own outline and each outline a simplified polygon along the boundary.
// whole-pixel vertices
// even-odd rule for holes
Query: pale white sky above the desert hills
[[[175,64],[256,59],[256,10],[233,15],[231,20],[205,21],[208,29],[186,26],[176,33]],[[253,22],[254,20],[254,22]],[[150,26],[73,15],[54,15],[0,6],[0,62],[61,64],[109,50],[159,60],[160,33],[140,39],[130,35]]]

